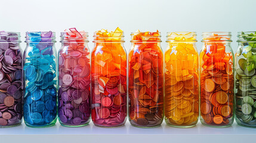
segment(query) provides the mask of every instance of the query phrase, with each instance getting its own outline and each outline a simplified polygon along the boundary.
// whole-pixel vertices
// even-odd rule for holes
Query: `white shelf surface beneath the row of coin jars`
[[[209,128],[200,122],[193,128],[172,128],[165,123],[159,128],[135,128],[129,122],[120,128],[88,126],[67,128],[56,123],[49,128],[29,128],[24,123],[0,129],[0,143],[4,142],[255,142],[256,129],[234,123],[229,128]],[[217,142],[217,143],[218,143]]]

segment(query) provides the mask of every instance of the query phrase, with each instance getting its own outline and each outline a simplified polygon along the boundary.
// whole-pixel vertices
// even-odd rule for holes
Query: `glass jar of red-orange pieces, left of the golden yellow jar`
[[[164,112],[164,55],[160,32],[131,33],[129,52],[129,122],[160,126]]]

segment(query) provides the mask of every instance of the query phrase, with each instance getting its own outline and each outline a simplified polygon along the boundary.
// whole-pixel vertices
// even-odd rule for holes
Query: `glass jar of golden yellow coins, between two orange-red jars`
[[[195,32],[167,33],[165,122],[189,128],[199,117],[199,66]]]

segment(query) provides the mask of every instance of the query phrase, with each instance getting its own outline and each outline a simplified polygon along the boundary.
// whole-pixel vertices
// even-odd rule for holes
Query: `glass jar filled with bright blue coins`
[[[57,121],[54,32],[26,32],[24,51],[24,122],[42,128]]]

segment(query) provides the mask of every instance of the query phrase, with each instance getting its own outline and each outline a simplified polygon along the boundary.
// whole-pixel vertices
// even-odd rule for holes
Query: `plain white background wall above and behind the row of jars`
[[[71,27],[85,30],[125,32],[125,48],[131,46],[130,33],[141,31],[162,33],[162,49],[166,47],[166,32],[193,31],[198,34],[201,50],[202,32],[232,32],[232,48],[236,52],[238,31],[256,30],[255,0],[0,0],[0,30],[21,32],[21,46],[26,47],[26,31],[56,32],[56,48],[60,48],[60,32]]]

